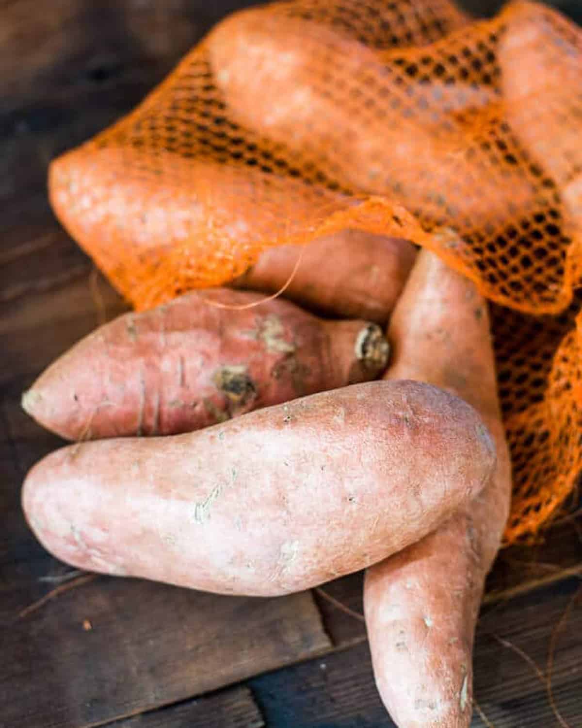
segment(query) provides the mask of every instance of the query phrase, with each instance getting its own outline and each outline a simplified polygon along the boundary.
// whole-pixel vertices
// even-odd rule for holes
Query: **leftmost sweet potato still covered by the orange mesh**
[[[74,150],[52,162],[52,207],[113,284],[143,305],[141,278],[165,285],[188,264],[188,285],[221,285],[278,237],[292,239],[354,199],[253,167],[188,159],[131,146]],[[154,278],[154,280],[152,280]],[[155,291],[152,296],[155,296]],[[161,301],[156,298],[156,303]]]

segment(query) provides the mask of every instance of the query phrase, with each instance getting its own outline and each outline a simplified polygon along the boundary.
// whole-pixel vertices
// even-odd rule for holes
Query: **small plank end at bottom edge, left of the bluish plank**
[[[116,722],[119,728],[263,728],[249,689],[238,687]]]

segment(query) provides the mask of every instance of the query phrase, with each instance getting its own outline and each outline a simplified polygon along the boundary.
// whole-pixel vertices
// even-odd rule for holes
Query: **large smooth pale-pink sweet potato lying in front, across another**
[[[41,543],[83,569],[282,594],[415,542],[494,463],[463,400],[376,381],[186,435],[68,446],[29,473],[23,508]]]

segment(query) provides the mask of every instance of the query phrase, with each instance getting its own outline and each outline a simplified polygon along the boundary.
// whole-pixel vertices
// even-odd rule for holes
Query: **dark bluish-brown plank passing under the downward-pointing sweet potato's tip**
[[[576,596],[578,601],[571,604],[569,618],[555,639],[552,686],[563,718],[572,727],[582,724],[580,588],[579,580],[570,579],[482,614],[475,648],[475,695],[495,728],[558,724],[535,669],[507,645],[522,650],[545,671],[554,630]],[[375,690],[365,641],[247,684],[269,728],[394,727]],[[476,713],[474,728],[483,725]]]

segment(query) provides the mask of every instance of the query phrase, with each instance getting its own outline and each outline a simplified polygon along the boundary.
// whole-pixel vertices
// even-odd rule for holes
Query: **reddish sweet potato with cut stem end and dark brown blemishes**
[[[125,314],[49,366],[23,407],[71,440],[168,435],[375,379],[386,368],[378,325],[325,321],[263,298],[213,289]]]

